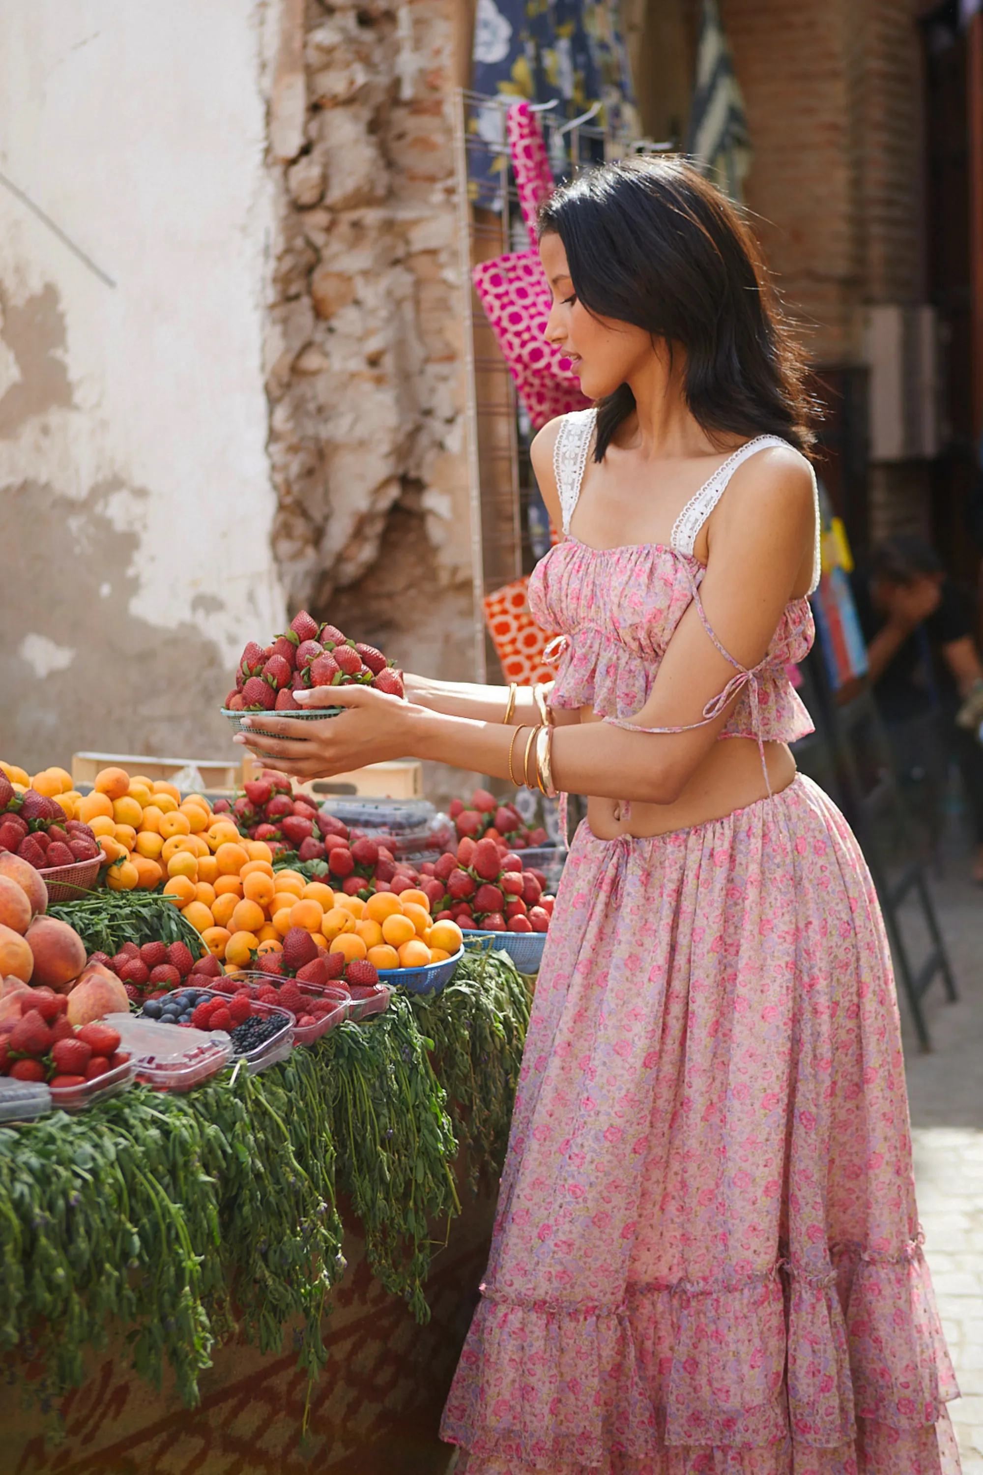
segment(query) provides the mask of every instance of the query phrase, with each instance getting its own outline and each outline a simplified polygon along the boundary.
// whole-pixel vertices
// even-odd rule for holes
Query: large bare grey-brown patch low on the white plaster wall
[[[32,773],[80,749],[234,751],[218,645],[189,621],[165,630],[130,612],[140,540],[108,515],[119,490],[77,502],[34,481],[0,488],[0,755]]]

